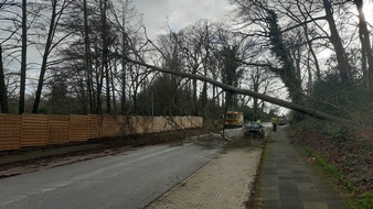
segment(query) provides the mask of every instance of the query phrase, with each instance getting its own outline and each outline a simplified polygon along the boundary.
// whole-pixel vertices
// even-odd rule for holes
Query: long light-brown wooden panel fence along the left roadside
[[[200,117],[0,114],[0,151],[200,128]]]

